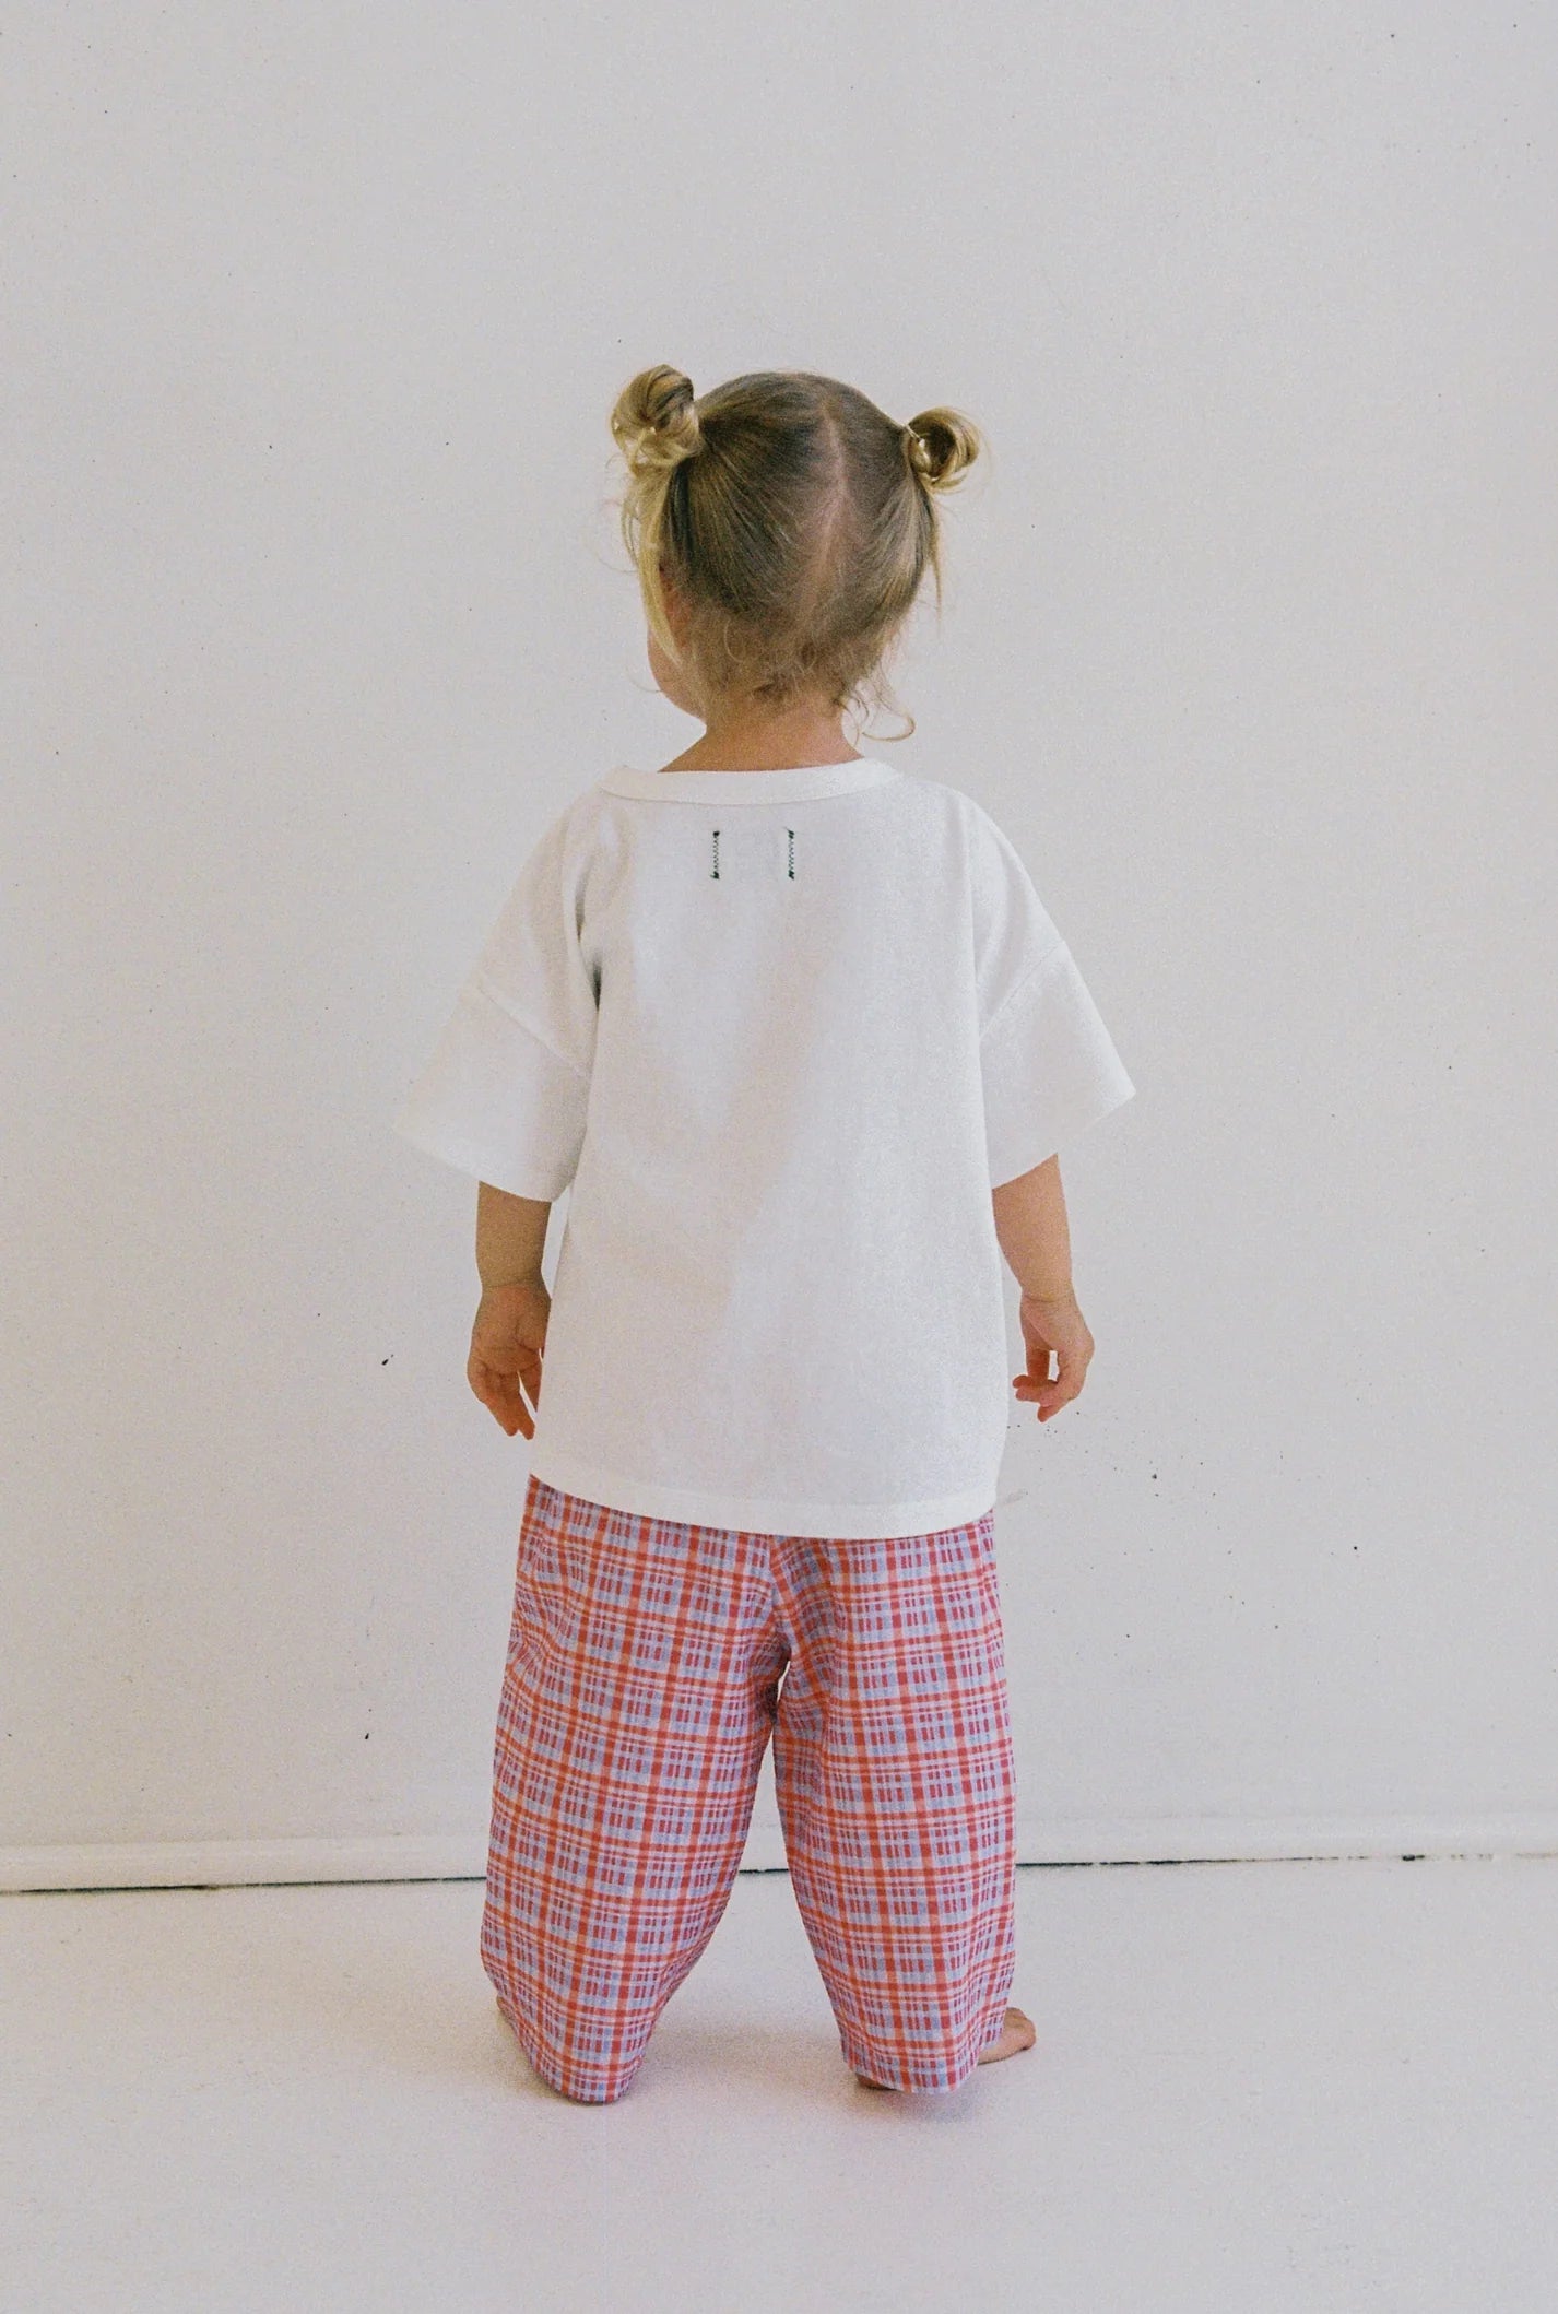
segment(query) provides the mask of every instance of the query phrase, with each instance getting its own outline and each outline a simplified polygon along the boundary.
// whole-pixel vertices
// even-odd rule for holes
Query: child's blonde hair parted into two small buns
[[[942,609],[935,498],[984,449],[970,419],[938,407],[898,426],[810,370],[748,370],[695,396],[657,363],[623,386],[611,433],[627,465],[623,539],[674,664],[688,657],[715,694],[771,706],[882,694],[880,662],[926,567]],[[688,609],[685,655],[662,565]]]

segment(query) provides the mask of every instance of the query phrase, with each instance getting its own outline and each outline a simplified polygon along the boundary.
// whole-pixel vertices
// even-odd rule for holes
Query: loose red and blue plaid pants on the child
[[[530,1476],[482,1965],[553,2090],[630,2085],[729,1900],[769,1736],[847,2064],[898,2090],[972,2073],[1014,1969],[993,1523],[748,1534]]]

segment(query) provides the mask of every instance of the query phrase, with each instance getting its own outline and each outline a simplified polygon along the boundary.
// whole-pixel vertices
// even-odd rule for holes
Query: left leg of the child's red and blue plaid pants
[[[535,2071],[565,2096],[623,2094],[713,1937],[782,1661],[766,1536],[530,1479],[482,1962]]]

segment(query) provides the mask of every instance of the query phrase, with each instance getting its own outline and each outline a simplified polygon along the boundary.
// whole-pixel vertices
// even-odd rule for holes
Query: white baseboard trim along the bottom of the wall
[[[1283,1863],[1306,1858],[1558,1856],[1558,1814],[1509,1816],[1035,1816],[1023,1865]],[[752,1826],[743,1872],[782,1872],[778,1826]],[[141,1840],[0,1849],[0,1891],[266,1888],[310,1881],[484,1879],[486,1835],[370,1840]]]

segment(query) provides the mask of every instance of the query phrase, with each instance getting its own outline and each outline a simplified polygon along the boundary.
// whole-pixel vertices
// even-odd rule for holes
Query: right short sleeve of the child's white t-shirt
[[[979,1074],[991,1187],[1030,1173],[1132,1099],[1067,942],[995,821],[970,828]]]

